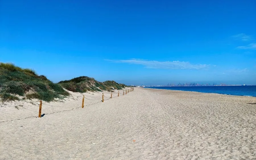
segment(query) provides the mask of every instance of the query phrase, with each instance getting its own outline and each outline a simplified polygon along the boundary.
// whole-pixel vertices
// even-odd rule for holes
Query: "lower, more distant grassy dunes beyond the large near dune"
[[[59,84],[66,90],[72,92],[102,92],[103,90],[113,92],[113,89],[121,90],[126,87],[124,84],[118,84],[115,81],[98,82],[94,78],[80,76],[71,80],[60,81]]]

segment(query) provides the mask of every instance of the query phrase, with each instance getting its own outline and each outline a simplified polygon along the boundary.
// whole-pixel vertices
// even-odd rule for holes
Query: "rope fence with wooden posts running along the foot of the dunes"
[[[127,94],[127,93],[129,93],[129,92],[132,92],[132,91],[134,91],[134,87],[131,87],[130,89],[125,90],[125,91],[123,90],[123,95],[125,95],[125,94]],[[125,93],[125,94],[124,94],[124,93]],[[117,95],[115,95],[114,97],[113,97],[112,95],[113,95],[113,94],[111,93],[110,97],[106,97],[106,96],[104,95],[104,93],[102,93],[102,96],[100,96],[100,97],[98,98],[98,99],[102,98],[102,101],[99,101],[99,102],[104,102],[104,97],[105,97],[105,98],[108,98],[108,99],[112,99],[112,98],[114,98],[114,97],[119,97],[119,91],[118,91]],[[68,105],[49,105],[49,104],[42,103],[42,100],[41,100],[41,101],[40,101],[40,104],[38,104],[38,105],[36,105],[36,106],[34,106],[34,107],[38,107],[38,106],[39,106],[38,118],[40,118],[40,117],[41,117],[41,111],[42,111],[42,105],[47,105],[47,106],[51,106],[51,107],[65,107],[65,106],[73,105],[73,104],[75,104],[75,103],[77,103],[77,102],[79,102],[79,101],[82,100],[82,108],[84,108],[84,106],[88,106],[88,105],[93,105],[93,104],[99,103],[99,102],[96,102],[96,103],[84,105],[84,99],[88,99],[88,100],[91,100],[91,101],[98,100],[98,99],[89,99],[89,98],[84,97],[84,95],[83,95],[83,97],[82,97],[81,99],[79,99],[78,101],[76,101],[76,102],[74,102],[74,103],[68,104]],[[105,99],[105,101],[108,100],[108,99]],[[27,108],[27,109],[23,109],[23,110],[19,110],[19,111],[14,111],[14,112],[0,113],[0,115],[9,114],[9,113],[15,113],[15,112],[20,112],[20,111],[25,111],[25,110],[28,110],[28,109],[32,109],[32,108],[34,108],[34,107],[30,107],[30,108]],[[80,107],[77,107],[77,108],[80,108]],[[75,108],[73,108],[73,109],[75,109]],[[69,110],[72,110],[72,109],[69,109]],[[69,110],[67,110],[67,111],[69,111]],[[56,112],[53,112],[53,113],[56,113]],[[47,114],[50,114],[50,113],[47,113]],[[47,115],[47,114],[45,114],[45,115]]]

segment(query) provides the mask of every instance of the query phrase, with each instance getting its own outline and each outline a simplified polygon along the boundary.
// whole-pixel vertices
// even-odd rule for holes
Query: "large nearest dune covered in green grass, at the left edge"
[[[46,76],[38,76],[32,69],[22,69],[12,63],[0,63],[0,98],[2,101],[18,100],[16,95],[52,101],[54,98],[68,96],[69,93]]]

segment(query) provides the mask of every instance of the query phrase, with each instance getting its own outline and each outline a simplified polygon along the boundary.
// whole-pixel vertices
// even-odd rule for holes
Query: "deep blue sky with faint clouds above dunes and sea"
[[[53,82],[256,84],[256,1],[0,1],[0,61]]]

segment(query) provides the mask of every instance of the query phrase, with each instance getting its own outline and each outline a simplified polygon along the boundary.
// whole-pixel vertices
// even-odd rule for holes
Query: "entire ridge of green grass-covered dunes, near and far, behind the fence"
[[[53,83],[46,76],[39,76],[35,70],[20,68],[12,63],[0,63],[0,99],[2,101],[22,99],[42,99],[52,101],[70,95],[63,88],[72,92],[113,92],[125,88],[115,81],[98,82],[94,78],[80,76],[71,80]]]

